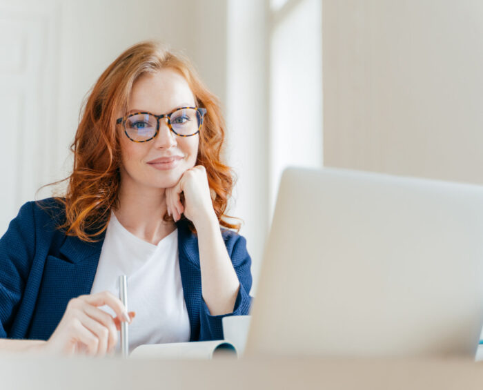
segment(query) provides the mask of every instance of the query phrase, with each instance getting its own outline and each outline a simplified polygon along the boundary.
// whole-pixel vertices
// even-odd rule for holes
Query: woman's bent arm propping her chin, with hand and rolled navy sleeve
[[[181,192],[184,193],[184,204],[181,203]],[[186,170],[174,187],[166,188],[166,206],[175,222],[184,213],[198,233],[201,271],[199,340],[222,339],[221,318],[246,315],[250,309],[251,260],[246,252],[245,239],[228,235],[224,242],[213,208],[206,168],[202,165]]]

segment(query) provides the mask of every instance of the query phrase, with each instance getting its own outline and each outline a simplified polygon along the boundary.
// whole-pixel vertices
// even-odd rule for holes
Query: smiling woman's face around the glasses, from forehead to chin
[[[188,83],[175,70],[164,68],[137,79],[132,87],[128,113],[161,115],[186,106],[196,106]],[[120,113],[119,117],[122,115],[124,113]],[[118,127],[122,186],[169,188],[175,186],[181,175],[196,164],[199,135],[179,137],[170,130],[166,118],[159,119],[159,132],[148,142],[132,142],[124,134],[124,127]],[[166,157],[175,157],[175,160],[166,164],[162,162]]]

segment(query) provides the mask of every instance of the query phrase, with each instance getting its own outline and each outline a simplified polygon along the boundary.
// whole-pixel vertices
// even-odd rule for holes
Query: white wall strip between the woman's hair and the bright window
[[[252,257],[253,288],[268,233],[268,50],[264,1],[228,1],[228,161],[237,173],[231,210]]]

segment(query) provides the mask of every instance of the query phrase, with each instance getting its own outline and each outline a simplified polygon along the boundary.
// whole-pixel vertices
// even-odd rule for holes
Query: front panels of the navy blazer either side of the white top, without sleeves
[[[177,222],[178,255],[181,284],[190,319],[190,340],[193,341],[199,338],[201,271],[198,237],[190,231],[188,223],[186,220]],[[47,257],[29,338],[48,340],[66,311],[68,302],[90,293],[104,237],[105,233],[99,236],[99,241],[88,243],[67,236],[59,248],[59,256]]]

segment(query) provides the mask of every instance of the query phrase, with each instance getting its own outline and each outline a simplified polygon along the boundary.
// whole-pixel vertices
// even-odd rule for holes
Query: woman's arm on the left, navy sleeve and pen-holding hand
[[[0,239],[0,350],[66,355],[86,352],[100,356],[112,352],[121,320],[131,322],[134,313],[128,314],[119,298],[107,291],[70,300],[61,322],[47,342],[19,340],[19,335],[14,334],[12,324],[15,324],[26,281],[30,277],[35,242],[33,202],[30,202],[22,206]],[[117,318],[98,308],[105,304],[115,311]]]

